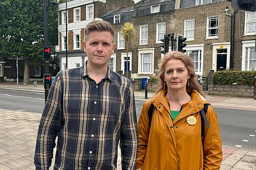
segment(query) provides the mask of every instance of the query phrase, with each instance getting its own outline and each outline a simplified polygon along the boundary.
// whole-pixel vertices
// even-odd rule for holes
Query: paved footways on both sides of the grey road
[[[16,82],[2,82],[0,83],[0,89],[45,92],[41,82],[37,82],[35,85],[23,85],[22,83],[17,85]],[[146,100],[144,99],[144,91],[135,91],[134,93],[136,100]],[[147,98],[153,96],[154,93],[147,93]],[[213,107],[256,110],[256,100],[253,98],[206,95],[206,99]],[[0,170],[35,169],[33,164],[34,151],[41,114],[18,111],[15,108],[13,110],[1,109],[0,104],[0,115]],[[256,128],[254,135],[256,136]],[[222,151],[221,170],[256,170],[256,146],[255,150],[245,150],[223,145]],[[118,153],[117,169],[121,169],[120,149]],[[53,169],[53,167],[50,169]]]

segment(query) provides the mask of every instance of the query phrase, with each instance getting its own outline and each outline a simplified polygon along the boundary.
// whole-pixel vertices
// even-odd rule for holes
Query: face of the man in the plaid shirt
[[[87,41],[82,43],[83,51],[88,56],[88,64],[98,67],[108,65],[116,47],[109,31],[92,31],[88,34]]]

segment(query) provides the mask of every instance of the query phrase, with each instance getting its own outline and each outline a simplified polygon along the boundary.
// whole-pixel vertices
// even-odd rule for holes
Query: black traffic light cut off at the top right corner
[[[256,0],[231,0],[231,7],[236,10],[256,11]]]

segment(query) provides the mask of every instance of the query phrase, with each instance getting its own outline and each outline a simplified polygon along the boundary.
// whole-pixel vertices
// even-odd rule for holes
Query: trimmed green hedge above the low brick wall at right
[[[216,71],[212,76],[214,84],[253,85],[256,71]]]

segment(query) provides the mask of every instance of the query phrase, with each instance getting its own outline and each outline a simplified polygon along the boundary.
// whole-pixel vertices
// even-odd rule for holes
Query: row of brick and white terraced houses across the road
[[[68,68],[80,66],[86,60],[81,46],[83,27],[93,19],[103,19],[111,22],[115,29],[117,47],[110,66],[120,74],[124,74],[127,69],[121,27],[126,21],[131,21],[135,26],[136,35],[128,53],[128,70],[131,71],[132,79],[154,76],[157,62],[163,56],[160,53],[160,45],[163,44],[160,39],[164,34],[171,33],[175,37],[181,34],[187,38],[184,49],[193,58],[196,74],[200,77],[207,77],[210,70],[256,69],[256,12],[233,10],[231,3],[224,0],[142,0],[134,5],[133,2],[121,2],[68,2]],[[113,8],[103,11],[103,6],[108,3],[113,3]],[[93,6],[94,12],[93,17],[88,19],[90,6]],[[80,11],[78,22],[75,21],[77,16],[74,17],[77,10]],[[61,69],[65,68],[67,44],[63,13],[65,4],[60,4],[58,57],[61,58]],[[82,59],[84,56],[85,59]]]

